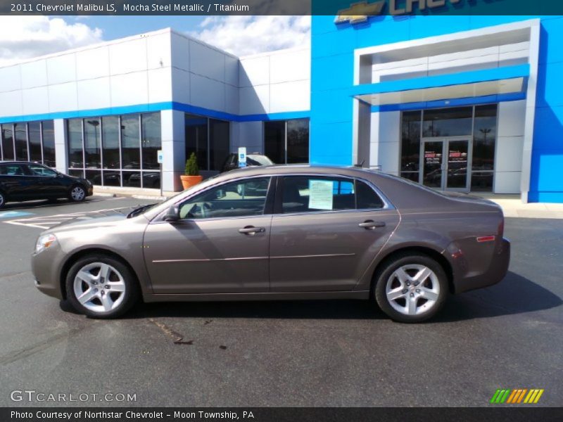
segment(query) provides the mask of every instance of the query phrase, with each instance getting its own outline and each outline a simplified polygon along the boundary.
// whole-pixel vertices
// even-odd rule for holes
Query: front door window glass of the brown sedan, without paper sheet
[[[250,217],[263,215],[270,177],[232,181],[186,200],[181,219]]]

